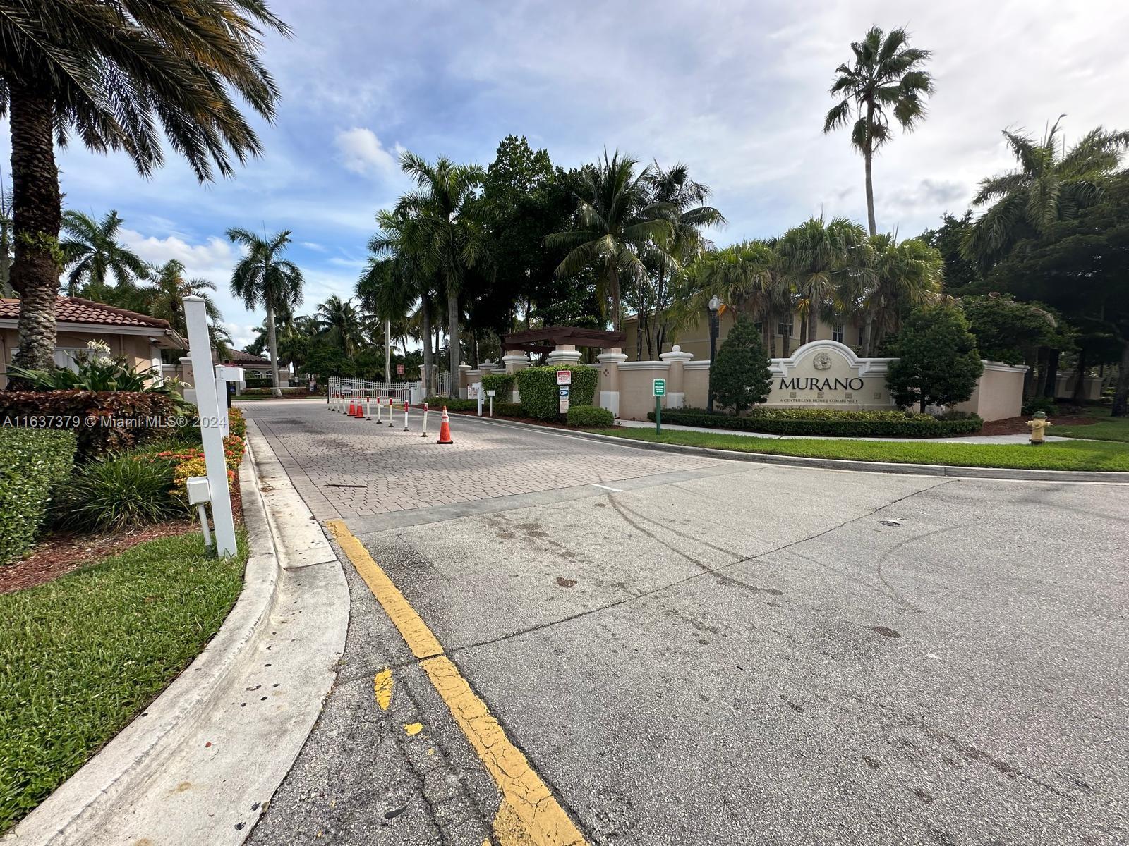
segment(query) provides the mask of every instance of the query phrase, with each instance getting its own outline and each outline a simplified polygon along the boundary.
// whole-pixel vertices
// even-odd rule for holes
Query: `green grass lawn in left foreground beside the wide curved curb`
[[[0,596],[0,834],[176,678],[243,587],[199,532],[139,544]]]

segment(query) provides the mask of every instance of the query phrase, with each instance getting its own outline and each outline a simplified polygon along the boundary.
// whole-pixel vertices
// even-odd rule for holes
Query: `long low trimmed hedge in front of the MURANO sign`
[[[791,411],[791,409],[788,409]],[[858,417],[848,417],[858,414]],[[983,421],[972,415],[964,420],[936,420],[926,415],[907,416],[899,412],[896,417],[875,420],[866,415],[875,412],[839,412],[840,416],[830,418],[749,416],[734,417],[727,414],[708,414],[707,412],[663,411],[663,422],[683,426],[704,426],[708,429],[729,429],[744,432],[763,432],[764,434],[809,434],[832,438],[947,438],[957,434],[979,432]],[[891,414],[891,412],[876,412]],[[655,413],[649,412],[647,420],[654,421]]]

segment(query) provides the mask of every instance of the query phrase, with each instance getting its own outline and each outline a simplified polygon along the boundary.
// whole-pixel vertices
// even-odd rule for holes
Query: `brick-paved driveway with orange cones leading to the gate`
[[[436,441],[439,415],[428,415],[430,437],[396,425],[358,421],[322,403],[245,403],[244,412],[318,520],[473,502],[493,496],[609,484],[719,464],[717,459],[604,444],[514,425],[453,415],[454,446]]]

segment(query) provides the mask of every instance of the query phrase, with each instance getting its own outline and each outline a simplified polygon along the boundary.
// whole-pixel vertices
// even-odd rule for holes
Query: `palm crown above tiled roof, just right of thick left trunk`
[[[111,275],[119,288],[126,289],[148,274],[149,268],[141,257],[117,240],[122,222],[116,209],[102,220],[72,209],[63,212],[62,231],[70,237],[59,247],[63,266],[69,268],[68,296],[73,297],[85,284],[85,293],[100,300],[106,294],[106,280]]]

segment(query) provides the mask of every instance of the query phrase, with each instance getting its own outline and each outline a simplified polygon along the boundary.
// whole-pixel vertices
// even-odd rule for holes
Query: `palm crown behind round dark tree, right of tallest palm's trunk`
[[[864,356],[899,329],[905,311],[940,298],[945,273],[940,253],[918,238],[899,243],[892,235],[876,235],[869,246],[869,273],[854,276],[861,281],[855,301],[864,316]]]

